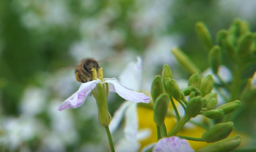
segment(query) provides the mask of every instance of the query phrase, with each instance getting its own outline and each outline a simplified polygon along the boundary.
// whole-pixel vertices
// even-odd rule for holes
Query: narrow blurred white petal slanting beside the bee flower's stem
[[[114,116],[112,117],[112,120],[109,124],[110,133],[115,132],[115,130],[118,128],[118,126],[124,116],[125,110],[127,110],[128,106],[131,105],[131,103],[132,102],[125,101],[118,108],[118,110],[115,111]]]

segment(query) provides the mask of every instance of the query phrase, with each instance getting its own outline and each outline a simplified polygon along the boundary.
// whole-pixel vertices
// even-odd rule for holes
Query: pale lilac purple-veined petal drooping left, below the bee
[[[100,79],[82,83],[80,88],[69,98],[67,98],[58,108],[59,111],[68,108],[77,108],[83,104],[86,97],[91,93],[92,89],[95,88]]]

